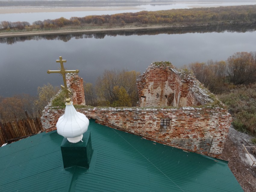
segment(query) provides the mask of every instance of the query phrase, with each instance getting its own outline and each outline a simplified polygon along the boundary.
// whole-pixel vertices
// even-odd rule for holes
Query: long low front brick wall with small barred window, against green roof
[[[228,135],[231,123],[229,113],[219,107],[178,109],[117,109],[93,108],[78,109],[88,118],[109,127],[120,127],[126,131],[155,139],[164,144],[218,157]],[[54,130],[59,116],[64,109],[48,108],[43,114],[42,125],[47,131]],[[170,119],[170,126],[160,126],[162,118]],[[47,122],[47,123],[46,123]]]

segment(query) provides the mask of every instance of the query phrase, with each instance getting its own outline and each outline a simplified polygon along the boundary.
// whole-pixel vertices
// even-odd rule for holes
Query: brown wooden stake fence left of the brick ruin
[[[31,119],[27,111],[25,113],[27,119],[5,123],[0,122],[0,147],[5,143],[9,144],[43,131],[40,117]]]

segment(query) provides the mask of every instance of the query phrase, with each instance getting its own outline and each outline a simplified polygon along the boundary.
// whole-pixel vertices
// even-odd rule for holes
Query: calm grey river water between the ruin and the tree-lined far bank
[[[37,87],[47,82],[59,86],[62,84],[62,78],[57,74],[46,73],[47,70],[58,69],[59,63],[55,60],[59,56],[67,60],[64,64],[67,69],[79,69],[80,76],[86,82],[94,83],[97,76],[105,69],[125,68],[143,73],[148,65],[155,61],[170,61],[176,67],[181,67],[195,61],[226,60],[238,51],[256,51],[255,31],[166,33],[168,32],[158,35],[136,33],[130,36],[117,34],[39,36],[30,38],[29,41],[24,38],[24,42],[1,43],[0,95],[6,97],[17,93],[35,95]],[[1,41],[8,40],[1,39]]]

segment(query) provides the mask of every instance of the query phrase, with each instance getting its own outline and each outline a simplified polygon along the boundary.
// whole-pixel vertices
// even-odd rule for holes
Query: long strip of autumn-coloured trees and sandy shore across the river
[[[237,6],[239,7],[239,6]],[[119,14],[114,18],[109,18],[109,15],[93,15],[89,18],[77,18],[74,20],[67,20],[63,17],[55,20],[47,20],[45,23],[42,21],[37,22],[33,25],[29,23],[9,23],[5,21],[2,24],[2,29],[0,30],[0,38],[6,37],[21,37],[21,36],[39,36],[39,35],[58,35],[58,34],[74,34],[74,33],[108,33],[114,31],[125,31],[130,32],[136,30],[162,30],[162,29],[191,29],[198,28],[205,29],[214,27],[225,27],[240,28],[242,32],[244,29],[255,28],[255,18],[253,14],[248,14],[248,12],[255,13],[256,5],[248,5],[241,7],[240,11],[236,11],[235,16],[227,17],[226,14],[233,11],[232,8],[211,8],[211,12],[207,8],[193,9],[187,11],[186,9],[181,10],[167,10],[167,11],[142,11],[139,16],[134,16],[133,13]],[[236,7],[234,7],[236,8]],[[220,10],[221,9],[221,10]],[[204,12],[205,13],[204,13]],[[221,13],[219,13],[221,11]],[[226,12],[225,12],[226,11]],[[248,14],[247,20],[241,19],[241,11],[243,14]],[[193,17],[188,15],[188,12],[192,14]],[[201,17],[201,13],[204,13],[205,18]],[[174,16],[172,18],[165,18],[165,14],[172,13]],[[199,13],[199,16],[197,16]],[[224,13],[224,16],[223,16]],[[233,13],[233,12],[232,12]],[[184,15],[183,17],[180,14]],[[210,15],[209,15],[210,14]],[[215,18],[212,16],[215,14]],[[217,14],[217,16],[216,16]],[[219,15],[220,14],[220,15]],[[207,17],[206,17],[207,16]],[[117,18],[116,18],[117,17]],[[118,18],[120,17],[120,18]],[[181,19],[180,19],[181,17]],[[141,19],[142,18],[142,19]],[[151,19],[153,18],[153,19]],[[192,19],[191,19],[192,18]],[[79,20],[81,19],[81,21]],[[184,19],[184,21],[183,21]],[[157,21],[161,22],[157,22]],[[127,23],[126,23],[127,22]],[[25,26],[26,25],[26,26]]]

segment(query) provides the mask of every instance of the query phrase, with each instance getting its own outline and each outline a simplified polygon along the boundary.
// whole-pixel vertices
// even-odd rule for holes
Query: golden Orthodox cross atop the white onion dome
[[[79,73],[79,70],[66,70],[63,66],[63,63],[66,63],[67,60],[62,60],[62,57],[60,56],[60,60],[56,60],[56,63],[61,63],[61,68],[58,68],[59,70],[52,71],[48,70],[47,73],[60,73],[63,77],[63,82],[64,86],[61,85],[61,88],[65,91],[66,93],[66,102],[67,104],[70,104],[71,98],[69,97],[68,93],[71,93],[71,91],[67,88],[67,81],[66,81],[66,73]]]

